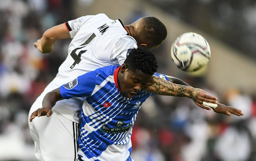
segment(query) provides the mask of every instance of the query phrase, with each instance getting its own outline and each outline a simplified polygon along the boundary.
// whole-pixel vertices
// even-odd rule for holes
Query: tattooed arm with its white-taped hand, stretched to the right
[[[216,97],[206,94],[201,89],[171,83],[157,76],[152,76],[151,81],[143,87],[143,90],[159,95],[189,97],[196,105],[207,110],[211,110],[211,108],[204,106],[202,104],[203,101],[214,104],[218,103]]]

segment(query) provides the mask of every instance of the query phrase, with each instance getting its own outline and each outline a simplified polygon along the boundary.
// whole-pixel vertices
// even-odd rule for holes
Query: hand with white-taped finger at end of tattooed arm
[[[199,88],[194,88],[191,91],[191,99],[196,103],[197,106],[203,108],[203,109],[207,109],[207,110],[211,110],[210,107],[204,106],[202,103],[204,102],[209,102],[209,103],[213,103],[213,104],[217,104],[217,98],[211,95],[208,95],[205,93],[204,90],[201,90]]]

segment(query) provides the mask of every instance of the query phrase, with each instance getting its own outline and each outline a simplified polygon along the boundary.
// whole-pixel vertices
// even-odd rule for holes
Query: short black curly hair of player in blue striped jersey
[[[154,52],[143,48],[132,49],[124,64],[133,72],[140,70],[149,75],[153,75],[158,68]]]

